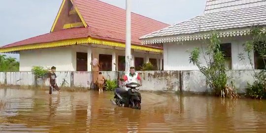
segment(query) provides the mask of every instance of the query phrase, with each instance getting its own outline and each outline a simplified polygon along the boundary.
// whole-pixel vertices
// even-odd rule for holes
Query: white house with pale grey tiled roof
[[[205,48],[212,31],[219,32],[221,50],[229,69],[246,69],[248,60],[239,61],[246,41],[251,40],[251,26],[262,26],[266,32],[266,0],[207,0],[204,13],[182,23],[140,37],[142,44],[162,44],[164,70],[197,70],[189,62],[188,51]],[[252,51],[253,66],[262,68],[263,59]],[[203,57],[201,61],[204,62]]]

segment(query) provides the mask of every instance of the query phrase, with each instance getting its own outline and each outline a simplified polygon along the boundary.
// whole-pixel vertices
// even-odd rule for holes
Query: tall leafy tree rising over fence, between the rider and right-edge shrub
[[[204,51],[202,49],[202,51]],[[213,90],[214,94],[223,97],[239,97],[232,87],[227,86],[228,77],[226,75],[224,54],[220,49],[218,33],[213,32],[210,42],[205,49],[206,52],[200,53],[198,47],[190,53],[190,63],[198,66],[200,72],[206,76],[206,84]],[[203,56],[206,65],[203,65],[200,56]]]

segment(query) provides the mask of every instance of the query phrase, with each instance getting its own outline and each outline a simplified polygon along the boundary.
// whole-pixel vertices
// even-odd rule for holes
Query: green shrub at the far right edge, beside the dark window
[[[252,40],[249,40],[244,44],[244,52],[246,52],[247,55],[245,56],[244,53],[240,53],[238,54],[238,58],[245,64],[245,60],[248,59],[249,63],[247,65],[252,67],[250,72],[255,79],[253,84],[248,83],[246,96],[262,99],[266,97],[266,33],[262,32],[261,27],[256,26],[251,27],[250,35],[252,36]],[[257,52],[257,56],[263,59],[263,65],[259,67],[262,69],[260,71],[256,71],[254,67],[254,52]],[[247,65],[245,66],[247,67]],[[248,67],[247,69],[249,70]]]

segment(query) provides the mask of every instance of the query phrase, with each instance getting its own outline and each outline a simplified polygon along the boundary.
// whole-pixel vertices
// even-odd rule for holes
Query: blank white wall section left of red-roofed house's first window
[[[56,66],[58,71],[73,71],[70,47],[20,51],[20,71],[31,71],[32,66]]]

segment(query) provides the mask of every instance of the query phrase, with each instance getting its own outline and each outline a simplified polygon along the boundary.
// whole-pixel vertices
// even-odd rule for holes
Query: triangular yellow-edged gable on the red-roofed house
[[[87,27],[87,25],[79,15],[77,8],[73,5],[72,1],[63,0],[51,28],[51,32],[77,27]]]

